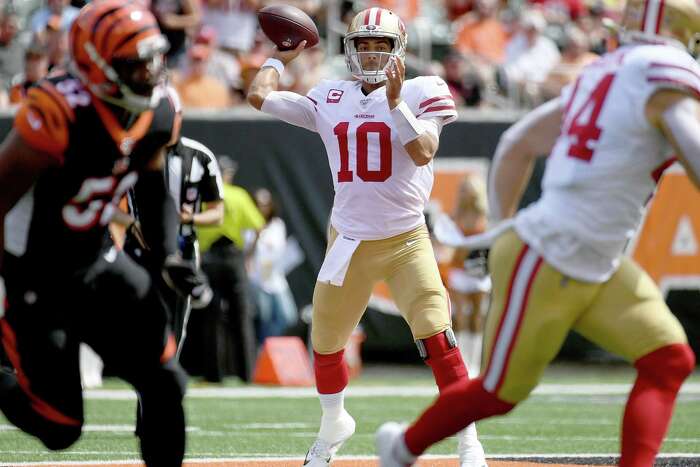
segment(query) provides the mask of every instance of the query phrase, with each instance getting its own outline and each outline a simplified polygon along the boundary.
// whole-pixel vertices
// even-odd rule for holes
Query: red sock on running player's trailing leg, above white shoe
[[[513,404],[486,392],[482,379],[462,379],[442,390],[437,401],[406,430],[406,447],[420,455],[429,446],[452,436],[472,422],[509,412]]]

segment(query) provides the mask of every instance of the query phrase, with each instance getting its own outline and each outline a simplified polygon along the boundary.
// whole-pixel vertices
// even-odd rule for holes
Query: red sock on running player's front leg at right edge
[[[622,421],[620,467],[649,467],[671,421],[676,395],[693,371],[695,355],[687,344],[651,352],[634,364],[637,380]]]

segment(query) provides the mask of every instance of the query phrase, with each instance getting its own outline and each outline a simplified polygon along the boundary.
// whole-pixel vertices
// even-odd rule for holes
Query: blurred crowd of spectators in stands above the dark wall
[[[68,31],[84,0],[0,0],[0,107],[68,57]],[[615,0],[145,0],[171,47],[170,79],[188,109],[244,106],[273,45],[256,11],[287,3],[311,15],[322,43],[294,61],[287,90],[306,93],[323,76],[347,78],[342,36],[357,11],[395,10],[409,35],[407,72],[437,74],[458,105],[532,107],[558,95],[614,41]]]

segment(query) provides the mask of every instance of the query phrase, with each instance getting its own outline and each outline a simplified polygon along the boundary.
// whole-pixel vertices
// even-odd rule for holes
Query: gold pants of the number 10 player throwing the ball
[[[337,235],[331,228],[328,248]],[[341,287],[316,282],[311,323],[316,352],[331,354],[345,347],[374,285],[381,280],[387,282],[414,339],[425,339],[450,327],[447,293],[423,225],[395,237],[362,241]]]

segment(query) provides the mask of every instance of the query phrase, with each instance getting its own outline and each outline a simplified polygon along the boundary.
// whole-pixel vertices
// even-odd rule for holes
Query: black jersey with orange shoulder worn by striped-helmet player
[[[23,258],[42,270],[75,270],[102,252],[119,200],[176,131],[175,109],[162,95],[154,109],[133,116],[125,129],[68,73],[29,89],[14,128],[56,164],[34,185],[33,202],[25,204],[29,215],[19,216],[28,225],[9,226],[26,232]]]

